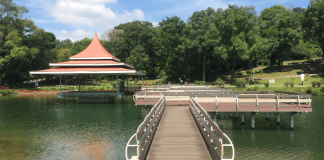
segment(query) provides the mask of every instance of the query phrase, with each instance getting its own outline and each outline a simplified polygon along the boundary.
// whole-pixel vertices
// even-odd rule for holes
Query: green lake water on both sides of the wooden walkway
[[[323,159],[324,98],[312,97],[313,112],[289,116],[217,114],[217,123],[234,143],[235,159]],[[112,104],[77,104],[56,95],[0,97],[0,159],[125,159],[125,145],[145,116],[125,97]],[[225,152],[226,153],[226,152]],[[226,158],[226,157],[225,157]]]

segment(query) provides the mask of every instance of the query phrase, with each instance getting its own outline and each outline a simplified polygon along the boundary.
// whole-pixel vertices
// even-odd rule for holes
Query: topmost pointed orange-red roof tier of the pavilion
[[[119,61],[118,58],[114,57],[113,55],[111,55],[100,43],[98,36],[97,36],[97,32],[95,32],[95,35],[92,39],[92,42],[90,43],[90,45],[83,50],[82,52],[71,56],[70,57],[71,60],[86,60],[86,59],[112,59],[115,61]]]

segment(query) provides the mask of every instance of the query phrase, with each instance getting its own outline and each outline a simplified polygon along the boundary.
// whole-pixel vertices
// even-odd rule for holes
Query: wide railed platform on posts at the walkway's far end
[[[164,95],[167,105],[189,105],[189,99],[194,99],[210,114],[234,113],[242,115],[245,123],[245,113],[251,113],[251,128],[255,128],[255,115],[274,113],[277,123],[280,114],[290,114],[290,128],[294,128],[294,115],[312,112],[310,94],[281,94],[275,91],[232,91],[226,88],[211,88],[209,86],[189,85],[157,85],[143,88],[133,96],[135,105],[152,106]]]

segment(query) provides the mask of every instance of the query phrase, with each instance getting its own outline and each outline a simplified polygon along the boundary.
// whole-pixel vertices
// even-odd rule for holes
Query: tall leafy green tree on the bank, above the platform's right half
[[[225,61],[233,82],[236,65],[249,59],[252,47],[249,42],[256,34],[256,13],[254,7],[229,5],[219,16],[221,20],[210,27],[209,36],[218,39],[214,55]]]

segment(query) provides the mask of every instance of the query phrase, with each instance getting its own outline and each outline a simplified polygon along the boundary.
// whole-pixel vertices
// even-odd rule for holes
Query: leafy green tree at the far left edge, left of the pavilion
[[[39,53],[38,48],[24,44],[26,35],[36,29],[32,20],[21,18],[27,12],[11,0],[0,1],[0,85],[7,77],[29,68]]]

